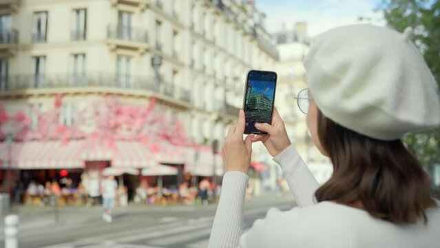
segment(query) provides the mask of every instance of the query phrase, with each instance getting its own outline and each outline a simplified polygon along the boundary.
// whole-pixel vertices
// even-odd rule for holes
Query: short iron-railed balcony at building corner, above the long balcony
[[[146,51],[148,48],[148,32],[145,29],[122,25],[109,25],[107,38],[112,48],[128,48]]]

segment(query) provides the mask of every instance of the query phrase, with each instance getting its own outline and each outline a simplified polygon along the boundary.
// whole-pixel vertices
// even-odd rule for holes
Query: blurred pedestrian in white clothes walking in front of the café
[[[103,220],[107,223],[112,222],[112,211],[116,203],[116,189],[118,183],[114,179],[114,176],[107,176],[101,183],[101,194],[103,196]]]

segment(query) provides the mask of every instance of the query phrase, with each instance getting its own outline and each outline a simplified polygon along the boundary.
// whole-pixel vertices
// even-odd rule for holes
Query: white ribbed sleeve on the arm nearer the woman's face
[[[315,192],[319,184],[295,147],[293,145],[287,147],[275,156],[273,161],[280,165],[297,205],[299,207],[314,205]]]

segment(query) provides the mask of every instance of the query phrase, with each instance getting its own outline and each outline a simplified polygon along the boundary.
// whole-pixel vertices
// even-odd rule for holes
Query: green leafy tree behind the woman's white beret
[[[379,10],[395,30],[414,29],[412,39],[440,85],[440,0],[382,0]],[[440,165],[440,128],[408,134],[404,141],[426,169]]]

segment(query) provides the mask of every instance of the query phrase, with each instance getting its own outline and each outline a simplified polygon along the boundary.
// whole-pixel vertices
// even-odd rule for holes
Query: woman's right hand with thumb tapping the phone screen
[[[286,127],[284,127],[284,122],[280,114],[278,114],[276,107],[273,107],[272,125],[268,123],[256,123],[255,127],[267,134],[254,136],[252,142],[261,141],[272,156],[277,156],[291,145],[289,136],[287,136]]]

